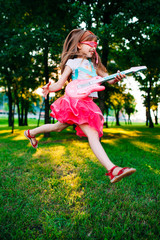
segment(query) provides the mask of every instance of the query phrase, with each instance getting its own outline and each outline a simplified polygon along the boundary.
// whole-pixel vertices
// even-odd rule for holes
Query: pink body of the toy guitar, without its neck
[[[70,82],[65,89],[66,94],[72,98],[85,98],[92,92],[99,92],[105,89],[104,86],[100,86],[99,83],[89,84],[91,81],[97,80],[101,77],[96,76],[87,80],[74,80]],[[83,85],[84,87],[80,87]]]

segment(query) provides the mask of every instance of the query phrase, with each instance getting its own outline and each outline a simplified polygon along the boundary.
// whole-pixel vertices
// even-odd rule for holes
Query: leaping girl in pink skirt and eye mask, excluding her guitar
[[[61,57],[61,77],[56,83],[48,83],[43,89],[46,98],[49,92],[60,90],[67,80],[89,79],[94,76],[107,76],[106,69],[96,52],[97,36],[88,30],[72,30],[63,46]],[[120,81],[125,75],[117,74],[110,84]],[[60,132],[75,124],[77,135],[88,138],[90,147],[101,164],[107,169],[111,183],[120,181],[136,171],[134,168],[115,166],[104,151],[100,137],[103,135],[104,118],[99,107],[93,102],[97,92],[91,93],[83,99],[72,98],[64,94],[51,105],[51,116],[58,120],[55,124],[45,124],[38,128],[27,130],[24,135],[30,140],[34,148],[38,147],[35,136],[46,132]]]

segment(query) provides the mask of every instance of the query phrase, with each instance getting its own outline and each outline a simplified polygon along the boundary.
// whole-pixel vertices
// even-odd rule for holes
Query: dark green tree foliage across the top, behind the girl
[[[159,6],[159,0],[1,0],[0,85],[8,91],[9,111],[17,102],[23,105],[22,95],[29,89],[34,91],[49,79],[57,81],[63,41],[82,22],[99,36],[97,51],[109,73],[147,66],[146,79],[137,80],[145,87],[150,109],[151,102],[159,102],[153,94],[155,83],[159,85]],[[148,74],[152,78],[149,92]],[[103,112],[104,101],[110,104],[108,92],[115,91],[105,85],[99,98]]]

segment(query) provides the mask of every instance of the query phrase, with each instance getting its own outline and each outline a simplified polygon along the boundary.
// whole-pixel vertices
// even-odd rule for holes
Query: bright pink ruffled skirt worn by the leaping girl
[[[51,117],[61,123],[75,124],[78,136],[86,137],[79,127],[82,124],[88,124],[96,129],[99,137],[103,135],[103,114],[91,98],[77,99],[64,95],[52,103],[50,108],[52,110]]]

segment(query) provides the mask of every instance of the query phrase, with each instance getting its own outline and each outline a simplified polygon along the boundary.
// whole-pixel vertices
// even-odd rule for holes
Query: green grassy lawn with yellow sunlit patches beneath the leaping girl
[[[137,169],[115,184],[72,127],[37,150],[25,129],[0,120],[0,239],[160,239],[160,127],[104,128],[110,159]]]

